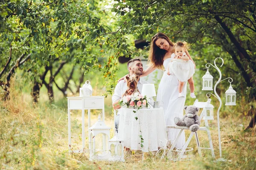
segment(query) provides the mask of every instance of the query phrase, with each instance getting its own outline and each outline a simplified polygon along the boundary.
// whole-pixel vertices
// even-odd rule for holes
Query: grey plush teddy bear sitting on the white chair
[[[178,126],[189,127],[189,130],[196,132],[199,129],[200,121],[198,116],[199,108],[195,106],[184,106],[185,115],[182,119],[179,117],[174,118],[174,122]]]

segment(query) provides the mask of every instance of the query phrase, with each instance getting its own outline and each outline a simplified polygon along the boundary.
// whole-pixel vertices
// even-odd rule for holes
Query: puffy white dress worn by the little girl
[[[183,53],[183,56],[185,54]],[[172,54],[172,62],[168,64],[169,71],[171,74],[175,74],[181,82],[186,82],[195,73],[195,65],[190,59],[186,61],[184,59],[173,59],[174,57],[175,53]]]

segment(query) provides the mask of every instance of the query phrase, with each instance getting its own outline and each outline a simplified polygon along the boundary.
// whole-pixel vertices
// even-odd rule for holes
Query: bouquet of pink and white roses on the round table
[[[148,108],[148,98],[137,92],[132,95],[123,96],[118,104],[124,108]]]

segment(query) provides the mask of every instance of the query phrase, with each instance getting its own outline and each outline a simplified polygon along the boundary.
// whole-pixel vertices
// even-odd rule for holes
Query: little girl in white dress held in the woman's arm
[[[193,74],[195,73],[195,65],[189,59],[189,57],[185,53],[185,48],[187,48],[186,42],[177,42],[173,46],[175,53],[171,56],[171,61],[168,64],[168,72],[167,74],[175,74],[177,79],[179,80],[179,97],[185,97],[185,94],[182,93],[184,82],[189,82],[190,87],[190,96],[195,98],[194,94],[194,80]]]

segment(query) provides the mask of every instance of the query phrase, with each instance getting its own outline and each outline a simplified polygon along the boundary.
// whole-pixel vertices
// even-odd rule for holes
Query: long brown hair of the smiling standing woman
[[[164,70],[163,57],[167,51],[157,47],[155,42],[156,40],[158,40],[158,38],[165,39],[166,41],[169,42],[169,45],[174,46],[174,43],[169,39],[169,37],[166,36],[166,34],[163,34],[161,32],[155,34],[151,38],[151,45],[150,45],[149,56],[148,56],[148,66]]]

